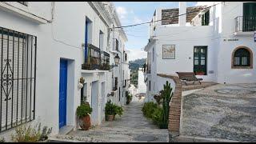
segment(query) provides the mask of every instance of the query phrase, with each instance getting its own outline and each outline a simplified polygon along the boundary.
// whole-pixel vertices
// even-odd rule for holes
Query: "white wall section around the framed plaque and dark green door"
[[[194,71],[194,46],[207,46],[207,73],[214,70],[214,46],[212,46],[212,26],[161,26],[156,30],[157,74]],[[167,36],[168,35],[168,36]],[[175,59],[162,59],[162,45],[175,45]],[[153,46],[154,47],[154,46]],[[204,81],[215,81],[214,74],[198,76]]]

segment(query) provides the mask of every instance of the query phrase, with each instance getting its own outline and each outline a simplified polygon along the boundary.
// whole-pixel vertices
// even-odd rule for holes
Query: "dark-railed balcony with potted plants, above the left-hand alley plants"
[[[102,55],[102,56],[101,56]],[[110,54],[92,44],[87,45],[87,59],[82,64],[82,70],[110,70]]]

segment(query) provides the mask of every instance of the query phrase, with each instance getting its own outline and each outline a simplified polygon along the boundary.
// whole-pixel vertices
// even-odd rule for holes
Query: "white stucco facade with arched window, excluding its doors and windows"
[[[218,4],[220,3],[220,4]],[[158,93],[149,90],[158,82],[157,74],[172,74],[176,72],[194,71],[194,46],[206,46],[206,74],[197,75],[205,82],[218,83],[250,83],[256,82],[254,31],[239,31],[236,19],[243,16],[245,2],[198,2],[198,6],[210,7],[210,21],[206,26],[201,25],[198,15],[205,14],[202,10],[192,22],[182,24],[162,25],[161,21],[150,23],[150,42],[145,47],[147,57],[147,94]],[[180,5],[182,6],[182,5]],[[162,10],[157,9],[153,21],[161,19]],[[180,18],[182,19],[182,18]],[[198,21],[199,20],[199,21]],[[183,22],[184,23],[184,22]],[[240,22],[241,23],[241,22]],[[154,28],[155,27],[155,28]],[[242,26],[240,26],[242,27]],[[174,45],[174,58],[164,59],[162,46]],[[238,48],[250,51],[250,66],[234,67],[232,54]]]

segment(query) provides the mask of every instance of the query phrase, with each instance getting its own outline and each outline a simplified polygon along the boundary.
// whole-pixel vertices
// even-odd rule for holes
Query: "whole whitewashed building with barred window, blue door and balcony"
[[[116,55],[110,27],[118,15],[106,3],[0,2],[0,136],[8,139],[27,122],[53,127],[52,134],[76,130],[76,109],[84,98],[93,108],[92,124],[101,124],[113,79],[120,79],[120,87],[123,80],[122,56],[117,66],[102,68],[114,64]],[[122,51],[127,38],[118,34]]]

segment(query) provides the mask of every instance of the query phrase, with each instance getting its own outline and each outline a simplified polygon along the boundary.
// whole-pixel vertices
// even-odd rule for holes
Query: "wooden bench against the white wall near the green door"
[[[201,85],[202,78],[197,78],[194,72],[176,72],[178,74],[178,78],[181,79],[182,82],[186,84],[186,82],[194,81],[199,82]],[[194,85],[193,82],[193,85]],[[186,84],[187,86],[187,84]]]

